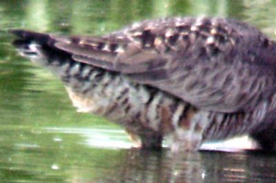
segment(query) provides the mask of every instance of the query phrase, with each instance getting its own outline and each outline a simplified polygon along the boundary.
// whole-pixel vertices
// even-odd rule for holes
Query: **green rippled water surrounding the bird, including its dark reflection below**
[[[9,28],[103,35],[168,16],[234,17],[276,39],[276,1],[0,0],[1,182],[276,182],[276,157],[256,153],[152,152],[124,131],[77,113],[60,81],[12,48]]]

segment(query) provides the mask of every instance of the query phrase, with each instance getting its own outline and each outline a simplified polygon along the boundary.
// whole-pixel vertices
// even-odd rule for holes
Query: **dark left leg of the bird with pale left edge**
[[[126,133],[130,136],[130,140],[135,142],[140,148],[159,150],[162,147],[163,136],[155,131],[144,129],[143,131],[135,132],[127,128]]]

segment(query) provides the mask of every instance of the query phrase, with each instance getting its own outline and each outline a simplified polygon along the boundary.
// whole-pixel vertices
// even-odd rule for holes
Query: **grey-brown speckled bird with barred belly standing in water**
[[[123,126],[141,148],[170,137],[172,151],[198,151],[239,135],[275,148],[276,44],[255,26],[166,17],[100,36],[9,31],[20,55],[63,81],[79,112]]]

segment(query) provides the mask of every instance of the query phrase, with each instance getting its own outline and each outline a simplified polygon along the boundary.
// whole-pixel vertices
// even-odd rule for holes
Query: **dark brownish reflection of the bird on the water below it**
[[[130,149],[126,158],[98,182],[190,183],[190,182],[274,182],[275,164],[264,166],[250,157],[233,153],[152,152]],[[264,155],[260,155],[264,158]],[[273,158],[265,157],[269,160]],[[271,159],[272,160],[272,159]],[[266,172],[266,173],[265,173]],[[92,180],[78,182],[94,182]]]

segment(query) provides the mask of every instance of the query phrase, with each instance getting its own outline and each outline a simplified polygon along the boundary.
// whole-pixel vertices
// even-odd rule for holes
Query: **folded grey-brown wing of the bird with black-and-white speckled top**
[[[51,36],[72,58],[122,73],[204,110],[253,110],[274,93],[276,48],[224,19],[159,19],[106,37]]]

